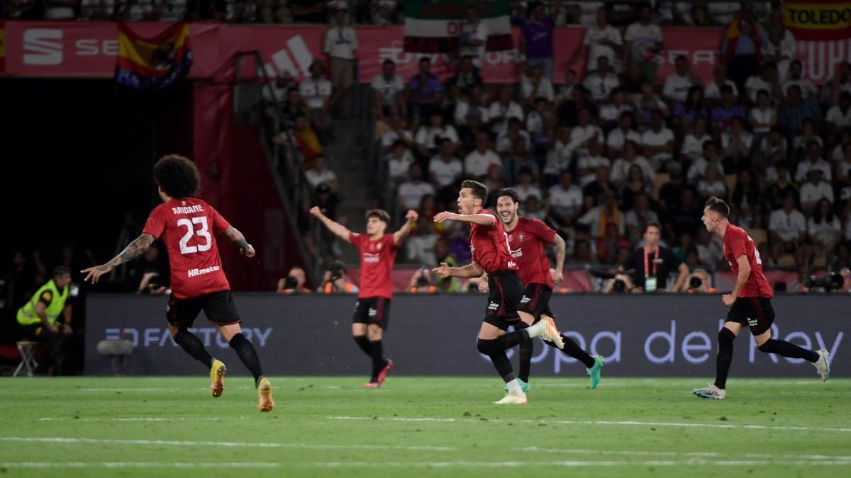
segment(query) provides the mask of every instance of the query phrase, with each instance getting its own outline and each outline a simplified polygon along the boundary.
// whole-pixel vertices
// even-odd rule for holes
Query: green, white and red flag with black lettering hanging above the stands
[[[488,31],[487,50],[514,48],[509,0],[405,0],[406,52],[455,53],[468,6],[475,6]]]

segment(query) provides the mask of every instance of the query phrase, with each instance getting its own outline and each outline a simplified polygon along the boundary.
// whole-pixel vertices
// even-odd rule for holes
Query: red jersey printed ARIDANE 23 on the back
[[[142,232],[163,238],[175,298],[191,299],[231,289],[221,269],[214,236],[229,227],[214,208],[194,197],[170,199],[151,211]]]

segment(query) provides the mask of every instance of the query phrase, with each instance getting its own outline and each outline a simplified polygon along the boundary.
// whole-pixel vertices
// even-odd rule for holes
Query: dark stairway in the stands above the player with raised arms
[[[342,201],[337,207],[337,218],[345,218],[346,227],[363,232],[363,214],[371,207],[368,198],[374,197],[372,174],[368,171],[364,151],[363,118],[334,119],[333,136],[325,145],[328,168],[337,174]],[[357,265],[357,250],[340,247],[340,260],[347,265]]]

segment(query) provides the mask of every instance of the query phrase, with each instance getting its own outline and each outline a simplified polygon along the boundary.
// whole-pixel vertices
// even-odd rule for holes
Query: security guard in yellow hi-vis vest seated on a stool
[[[44,347],[40,369],[53,365],[61,337],[71,334],[71,305],[66,306],[70,285],[71,269],[60,265],[54,269],[53,278],[18,310],[18,324],[24,336],[41,342]]]

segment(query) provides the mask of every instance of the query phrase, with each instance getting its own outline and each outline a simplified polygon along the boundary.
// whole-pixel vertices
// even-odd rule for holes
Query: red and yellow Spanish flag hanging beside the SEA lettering
[[[189,26],[177,23],[153,38],[118,25],[115,79],[131,88],[163,89],[186,77],[192,65]]]

